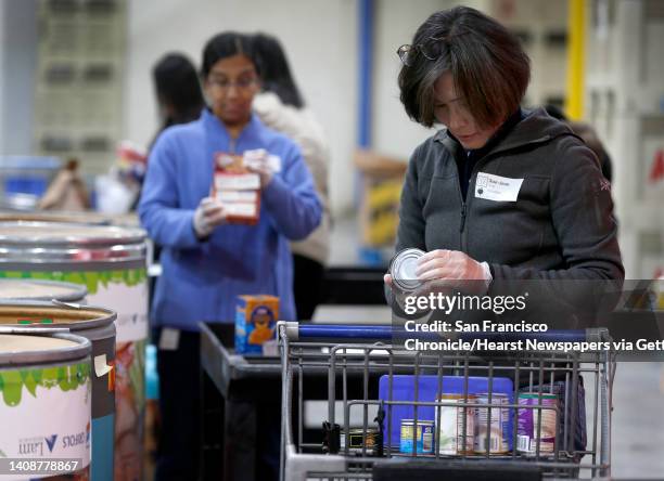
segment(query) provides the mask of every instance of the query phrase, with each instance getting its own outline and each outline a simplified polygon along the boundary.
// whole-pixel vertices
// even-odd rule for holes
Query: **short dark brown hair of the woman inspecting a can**
[[[531,61],[519,39],[483,13],[459,6],[436,12],[398,54],[400,99],[425,127],[435,113],[435,82],[448,73],[482,127],[495,127],[518,108],[531,79]]]

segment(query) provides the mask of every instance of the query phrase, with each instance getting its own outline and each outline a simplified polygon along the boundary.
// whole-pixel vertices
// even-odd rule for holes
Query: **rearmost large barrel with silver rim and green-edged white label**
[[[141,229],[0,222],[0,278],[81,284],[88,289],[90,304],[117,313],[114,478],[123,481],[142,476],[148,337],[145,238]],[[97,448],[95,444],[94,457]]]

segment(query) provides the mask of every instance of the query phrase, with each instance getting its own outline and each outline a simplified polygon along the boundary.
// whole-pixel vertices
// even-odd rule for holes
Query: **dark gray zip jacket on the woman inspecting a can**
[[[523,118],[481,158],[462,198],[456,156],[442,130],[414,151],[400,204],[397,250],[461,250],[495,280],[622,281],[611,187],[599,161],[544,109]],[[482,198],[478,172],[523,179],[515,202]]]

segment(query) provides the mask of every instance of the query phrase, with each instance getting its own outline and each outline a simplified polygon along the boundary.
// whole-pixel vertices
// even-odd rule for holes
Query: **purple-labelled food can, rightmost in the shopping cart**
[[[540,395],[541,404],[539,402]],[[539,443],[539,453],[552,454],[556,446],[556,432],[558,428],[557,411],[542,410],[537,406],[557,407],[558,395],[524,392],[519,394],[519,405],[524,407],[520,407],[518,412],[518,451],[535,455],[537,453],[537,444]],[[539,420],[540,418],[541,421]],[[537,435],[538,422],[541,422],[539,437]]]

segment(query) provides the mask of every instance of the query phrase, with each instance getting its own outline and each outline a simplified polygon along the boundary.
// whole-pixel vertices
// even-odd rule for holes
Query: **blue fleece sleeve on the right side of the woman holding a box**
[[[321,206],[297,146],[292,144],[284,155],[283,172],[272,177],[261,198],[274,227],[290,240],[299,240],[320,223]]]

